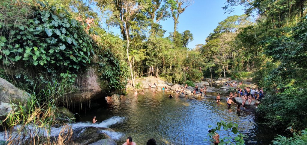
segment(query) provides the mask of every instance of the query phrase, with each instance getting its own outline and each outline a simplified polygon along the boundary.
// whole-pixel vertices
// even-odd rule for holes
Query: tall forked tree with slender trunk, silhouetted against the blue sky
[[[168,0],[170,5],[171,15],[174,20],[174,37],[176,37],[177,24],[179,23],[179,15],[185,11],[188,6],[191,6],[194,2],[193,0]]]

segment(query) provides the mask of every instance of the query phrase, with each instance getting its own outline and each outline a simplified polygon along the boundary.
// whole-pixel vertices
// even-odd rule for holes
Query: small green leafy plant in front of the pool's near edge
[[[208,133],[208,136],[212,138],[212,136],[215,136],[216,133],[220,135],[220,143],[219,144],[226,144],[226,145],[244,145],[244,135],[242,133],[239,133],[238,131],[238,124],[232,123],[232,122],[217,122],[216,127],[212,128],[211,125],[209,125],[209,128],[212,128],[212,132]],[[211,139],[213,142],[213,139]]]

